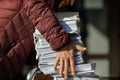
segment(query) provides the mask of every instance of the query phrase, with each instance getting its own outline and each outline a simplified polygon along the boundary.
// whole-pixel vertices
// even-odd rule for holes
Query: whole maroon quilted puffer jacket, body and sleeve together
[[[11,80],[34,50],[35,26],[53,50],[68,43],[50,8],[52,1],[0,0],[0,80]]]

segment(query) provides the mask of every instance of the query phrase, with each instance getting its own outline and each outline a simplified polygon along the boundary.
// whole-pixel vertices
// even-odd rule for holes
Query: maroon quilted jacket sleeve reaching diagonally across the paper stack
[[[68,34],[60,26],[52,9],[44,0],[27,1],[24,4],[24,10],[53,50],[57,50],[69,43]]]

